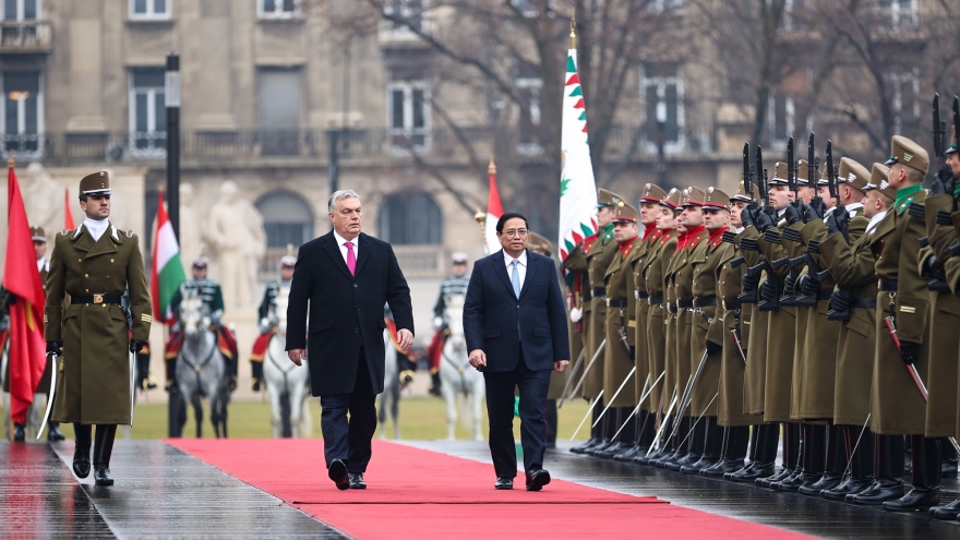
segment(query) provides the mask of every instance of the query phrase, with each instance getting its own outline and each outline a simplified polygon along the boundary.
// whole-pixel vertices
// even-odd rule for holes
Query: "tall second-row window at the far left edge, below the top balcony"
[[[39,72],[4,71],[2,75],[4,153],[21,157],[43,154],[44,81]]]

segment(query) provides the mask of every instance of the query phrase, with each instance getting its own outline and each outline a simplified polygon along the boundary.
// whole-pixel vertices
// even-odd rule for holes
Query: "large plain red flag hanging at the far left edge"
[[[7,178],[8,236],[3,288],[14,297],[10,314],[10,418],[25,423],[46,367],[44,340],[44,284],[37,271],[33,235],[13,166]],[[39,388],[47,392],[48,388]]]

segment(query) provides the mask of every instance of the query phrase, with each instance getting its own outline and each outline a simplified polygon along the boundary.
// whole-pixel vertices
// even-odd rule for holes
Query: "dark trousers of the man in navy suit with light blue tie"
[[[497,478],[517,476],[517,447],[514,440],[514,388],[520,389],[520,445],[524,469],[543,466],[547,449],[547,391],[550,370],[530,371],[524,353],[513,371],[484,372],[487,416],[490,420],[490,455]]]

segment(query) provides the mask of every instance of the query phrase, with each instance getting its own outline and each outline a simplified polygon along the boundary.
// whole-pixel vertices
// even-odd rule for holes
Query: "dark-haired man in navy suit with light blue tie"
[[[483,372],[490,454],[497,490],[517,475],[514,388],[520,391],[520,443],[527,491],[550,483],[547,389],[550,372],[569,363],[566,310],[553,260],[527,250],[527,218],[507,213],[496,223],[503,250],[477,261],[464,303],[464,334],[470,365]]]

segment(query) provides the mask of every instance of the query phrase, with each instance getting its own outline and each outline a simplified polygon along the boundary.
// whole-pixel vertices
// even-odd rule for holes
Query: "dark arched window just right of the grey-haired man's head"
[[[393,193],[380,208],[380,238],[397,245],[443,243],[443,217],[423,192]]]

